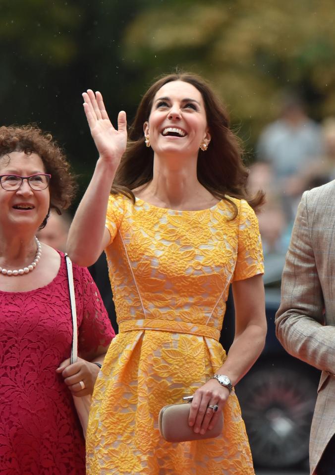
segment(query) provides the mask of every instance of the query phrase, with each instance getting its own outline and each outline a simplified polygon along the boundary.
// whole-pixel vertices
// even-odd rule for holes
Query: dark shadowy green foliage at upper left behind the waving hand
[[[1,123],[36,122],[51,131],[82,189],[97,154],[81,94],[101,90],[114,120],[119,108],[128,110],[120,39],[139,3],[0,0]]]

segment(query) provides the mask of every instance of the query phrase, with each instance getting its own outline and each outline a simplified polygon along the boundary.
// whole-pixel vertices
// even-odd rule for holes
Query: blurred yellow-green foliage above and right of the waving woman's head
[[[253,142],[300,91],[317,119],[335,110],[333,0],[152,2],[129,24],[124,54],[147,81],[174,66],[216,87]]]

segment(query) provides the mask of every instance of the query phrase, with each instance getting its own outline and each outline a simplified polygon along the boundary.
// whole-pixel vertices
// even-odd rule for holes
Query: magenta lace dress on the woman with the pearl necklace
[[[60,255],[58,274],[45,287],[0,291],[1,475],[85,474],[81,426],[71,393],[56,373],[70,356],[72,338]],[[73,277],[79,352],[106,346],[114,332],[97,287],[84,267],[73,265]]]

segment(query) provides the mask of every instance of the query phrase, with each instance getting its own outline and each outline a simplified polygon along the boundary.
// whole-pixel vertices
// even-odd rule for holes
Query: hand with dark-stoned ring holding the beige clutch
[[[193,426],[194,432],[205,434],[207,429],[215,426],[228,396],[229,390],[215,379],[209,379],[196,390],[188,418],[188,423]]]

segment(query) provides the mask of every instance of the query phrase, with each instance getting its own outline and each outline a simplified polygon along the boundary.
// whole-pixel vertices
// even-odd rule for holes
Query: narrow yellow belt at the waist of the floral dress
[[[197,325],[186,321],[175,320],[123,320],[118,324],[118,331],[160,330],[173,333],[189,333],[190,335],[207,336],[219,341],[220,330],[206,325]]]

